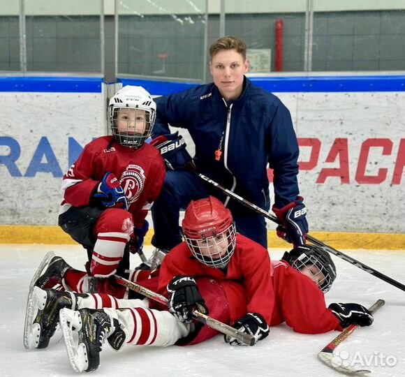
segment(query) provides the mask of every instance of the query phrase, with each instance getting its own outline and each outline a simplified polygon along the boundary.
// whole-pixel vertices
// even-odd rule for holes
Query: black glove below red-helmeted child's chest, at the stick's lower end
[[[233,324],[233,327],[246,334],[253,335],[256,341],[265,339],[270,333],[269,325],[267,325],[265,319],[258,313],[247,313],[246,316],[237,320]],[[229,343],[231,346],[246,346],[246,344],[229,335],[224,335],[224,339],[226,343]]]

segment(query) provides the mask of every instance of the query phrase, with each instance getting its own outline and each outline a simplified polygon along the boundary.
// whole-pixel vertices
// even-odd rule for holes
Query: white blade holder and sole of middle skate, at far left
[[[34,323],[34,318],[39,310],[45,308],[46,293],[38,287],[29,290],[27,298],[27,310],[25,311],[24,347],[27,349],[38,348],[40,338],[40,325]]]

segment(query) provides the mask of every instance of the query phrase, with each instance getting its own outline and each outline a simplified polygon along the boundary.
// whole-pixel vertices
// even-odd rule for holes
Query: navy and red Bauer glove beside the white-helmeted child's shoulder
[[[158,136],[150,145],[161,152],[167,170],[196,170],[193,158],[186,149],[186,142],[178,132]]]

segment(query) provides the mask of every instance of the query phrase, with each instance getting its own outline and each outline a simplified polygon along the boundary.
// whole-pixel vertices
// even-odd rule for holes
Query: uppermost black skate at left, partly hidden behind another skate
[[[31,290],[34,286],[37,286],[41,289],[53,288],[65,290],[63,278],[68,269],[72,269],[72,267],[65,262],[64,258],[55,256],[50,251],[43,257],[42,262],[31,279],[29,289]]]

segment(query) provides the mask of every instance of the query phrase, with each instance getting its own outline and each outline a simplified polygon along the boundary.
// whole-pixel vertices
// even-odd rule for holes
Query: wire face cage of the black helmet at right
[[[336,274],[332,276],[330,274],[330,269],[327,269],[325,266],[329,265],[329,262],[323,258],[321,254],[318,253],[302,253],[298,256],[297,259],[293,261],[291,267],[301,271],[304,267],[307,267],[308,271],[314,277],[314,281],[318,287],[322,290],[323,293],[327,293],[332,287],[332,283],[336,278]],[[312,266],[315,266],[318,272],[314,274],[314,269],[311,269]],[[319,278],[318,281],[315,279]]]

